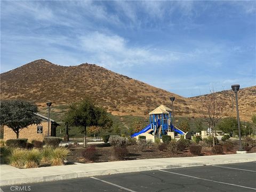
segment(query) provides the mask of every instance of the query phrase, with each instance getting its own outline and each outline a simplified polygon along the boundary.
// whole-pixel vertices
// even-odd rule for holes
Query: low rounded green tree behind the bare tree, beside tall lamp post
[[[237,131],[237,121],[235,117],[225,117],[216,125],[217,128],[225,133],[231,133]]]

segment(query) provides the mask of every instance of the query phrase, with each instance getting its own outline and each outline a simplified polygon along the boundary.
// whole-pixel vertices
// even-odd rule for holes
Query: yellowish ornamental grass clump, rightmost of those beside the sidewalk
[[[52,150],[51,165],[63,165],[68,156],[69,150],[66,148],[58,147]]]

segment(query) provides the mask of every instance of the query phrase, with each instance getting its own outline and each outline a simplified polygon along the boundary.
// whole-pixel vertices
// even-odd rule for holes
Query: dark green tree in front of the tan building
[[[20,130],[41,123],[41,119],[35,115],[37,112],[37,106],[29,101],[1,101],[1,125],[12,129],[18,139]]]

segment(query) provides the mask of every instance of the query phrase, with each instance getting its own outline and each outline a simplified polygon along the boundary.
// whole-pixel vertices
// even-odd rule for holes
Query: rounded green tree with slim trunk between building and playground
[[[94,106],[90,99],[71,104],[65,113],[64,122],[83,129],[84,147],[86,147],[87,126],[101,126],[106,129],[106,126],[113,124],[111,118],[107,115],[107,111],[101,107]]]

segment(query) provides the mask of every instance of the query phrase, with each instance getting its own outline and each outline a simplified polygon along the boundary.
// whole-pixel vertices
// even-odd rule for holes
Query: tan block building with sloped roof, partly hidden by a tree
[[[27,128],[20,130],[19,138],[26,138],[31,142],[32,140],[43,141],[44,137],[47,137],[48,118],[40,114],[36,115],[42,119],[41,124],[29,125]],[[57,122],[50,119],[50,136],[56,137],[56,127],[58,125]],[[16,133],[9,127],[4,126],[4,140],[6,141],[8,139],[16,139]]]

